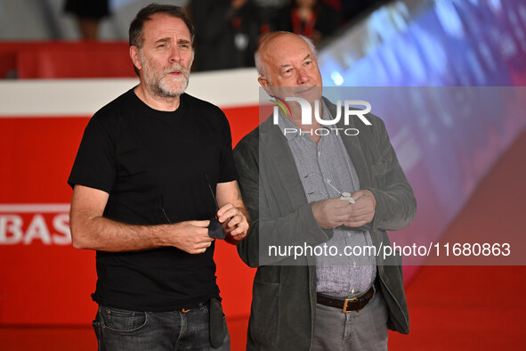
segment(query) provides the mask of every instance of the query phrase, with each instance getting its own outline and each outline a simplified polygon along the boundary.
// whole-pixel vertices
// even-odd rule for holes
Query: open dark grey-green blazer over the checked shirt
[[[326,103],[336,116],[336,106]],[[360,188],[375,196],[376,215],[366,226],[376,248],[380,248],[390,244],[386,230],[399,230],[411,223],[417,202],[384,122],[372,114],[367,118],[372,126],[355,118],[350,126],[339,123],[337,127],[360,130],[359,135],[343,135],[342,139],[358,173]],[[314,219],[312,203],[307,203],[287,140],[272,124],[272,118],[238,143],[234,159],[251,217],[247,238],[238,244],[239,256],[247,265],[257,267],[247,349],[309,350],[316,312],[316,267],[307,261],[298,265],[290,262],[291,258],[260,255],[260,249],[283,242],[318,245],[332,237],[332,230],[321,229]],[[377,257],[377,276],[389,310],[388,328],[408,333],[401,257]]]

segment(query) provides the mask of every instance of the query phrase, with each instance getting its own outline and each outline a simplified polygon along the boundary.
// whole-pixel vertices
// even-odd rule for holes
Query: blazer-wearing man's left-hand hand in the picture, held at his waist
[[[312,214],[323,229],[336,228],[349,220],[352,205],[348,200],[328,199],[314,202]]]

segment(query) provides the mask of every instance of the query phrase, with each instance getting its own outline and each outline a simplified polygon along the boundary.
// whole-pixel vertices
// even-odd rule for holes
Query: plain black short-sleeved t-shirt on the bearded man
[[[231,131],[223,111],[182,94],[172,112],[153,110],[133,89],[90,119],[68,183],[109,193],[104,216],[127,224],[210,219],[217,183],[237,179]],[[97,251],[103,306],[170,311],[218,297],[214,244],[190,255],[166,247]]]

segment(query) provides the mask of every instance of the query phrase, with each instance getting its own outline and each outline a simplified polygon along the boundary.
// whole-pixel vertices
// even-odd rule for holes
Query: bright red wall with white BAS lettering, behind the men
[[[257,106],[225,109],[233,143],[257,125]],[[69,240],[66,183],[88,117],[0,118],[0,324],[85,324],[95,304],[94,252]],[[247,316],[255,271],[219,242],[225,314]]]

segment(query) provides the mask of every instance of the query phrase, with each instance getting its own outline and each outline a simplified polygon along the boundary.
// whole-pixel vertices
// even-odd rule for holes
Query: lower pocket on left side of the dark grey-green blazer
[[[272,348],[276,340],[279,317],[279,284],[254,281],[252,310],[248,330],[250,337],[263,348]]]

